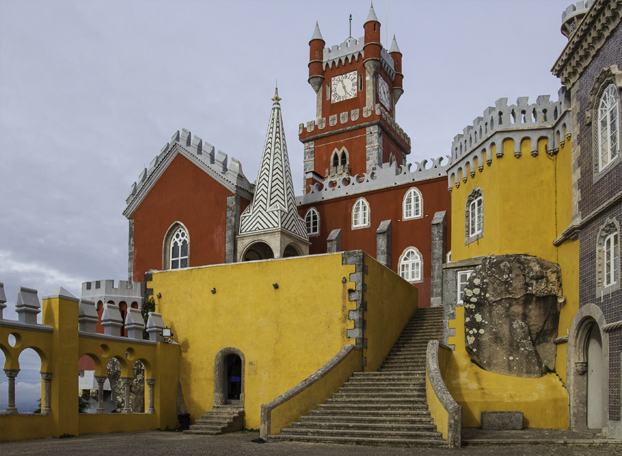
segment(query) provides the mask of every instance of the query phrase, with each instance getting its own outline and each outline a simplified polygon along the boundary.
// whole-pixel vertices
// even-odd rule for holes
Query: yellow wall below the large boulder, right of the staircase
[[[455,350],[444,379],[462,405],[462,426],[479,427],[482,411],[519,411],[525,428],[568,428],[568,394],[556,374],[522,379],[482,370],[464,348],[464,307],[456,307],[449,327],[455,328],[455,336],[449,338]]]

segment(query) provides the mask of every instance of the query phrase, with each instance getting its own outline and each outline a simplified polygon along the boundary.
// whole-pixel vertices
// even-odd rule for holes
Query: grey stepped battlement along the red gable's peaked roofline
[[[242,171],[242,163],[232,157],[231,163],[227,165],[228,156],[225,152],[221,150],[216,152],[213,145],[207,143],[207,141],[203,142],[199,136],[195,135],[193,138],[191,132],[184,128],[181,133],[179,130],[176,131],[171,137],[171,141],[160,149],[160,154],[153,157],[149,167],[144,168],[140,172],[138,180],[132,184],[130,192],[125,199],[127,208],[124,214],[128,212],[129,207],[138,198],[143,188],[148,185],[152,176],[160,176],[163,171],[162,164],[168,164],[167,159],[178,150],[177,147],[181,147],[187,152],[187,156],[203,167],[204,170],[209,170],[214,177],[220,179],[223,183],[228,183],[229,187],[241,188],[252,194],[253,185],[246,179]]]

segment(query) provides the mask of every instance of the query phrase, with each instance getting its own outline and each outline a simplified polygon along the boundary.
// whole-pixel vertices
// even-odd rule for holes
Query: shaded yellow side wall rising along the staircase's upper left
[[[366,371],[378,370],[402,330],[417,310],[417,289],[386,266],[366,258]],[[370,261],[367,261],[370,259]]]

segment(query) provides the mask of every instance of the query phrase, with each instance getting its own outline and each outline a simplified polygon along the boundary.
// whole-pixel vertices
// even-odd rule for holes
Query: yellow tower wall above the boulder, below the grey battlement
[[[546,141],[538,142],[538,156],[529,153],[531,143],[523,140],[521,156],[513,155],[513,141],[506,140],[504,154],[491,154],[491,165],[467,175],[466,183],[451,194],[451,259],[478,255],[526,253],[556,262],[556,161],[546,154]],[[473,189],[483,194],[484,227],[478,241],[464,245],[466,197]]]

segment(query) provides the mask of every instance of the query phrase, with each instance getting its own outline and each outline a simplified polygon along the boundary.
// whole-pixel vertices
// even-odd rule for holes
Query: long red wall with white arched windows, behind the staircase
[[[416,187],[423,198],[423,217],[402,221],[402,201],[409,188]],[[370,226],[352,230],[352,206],[364,197],[370,206]],[[451,195],[446,177],[430,179],[393,188],[373,190],[348,197],[319,201],[299,207],[304,217],[311,207],[320,215],[320,234],[310,238],[310,253],[326,253],[326,238],[334,229],[341,228],[341,250],[364,250],[376,257],[376,230],[383,220],[391,221],[391,268],[397,272],[399,257],[409,246],[416,247],[423,256],[423,282],[414,284],[419,290],[420,307],[430,307],[431,237],[435,212],[446,211],[446,246],[451,246]]]

